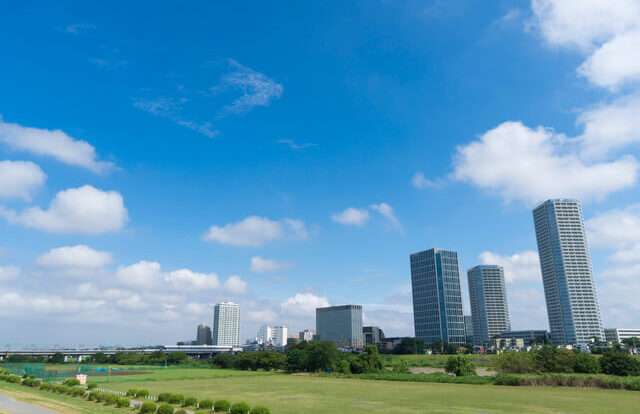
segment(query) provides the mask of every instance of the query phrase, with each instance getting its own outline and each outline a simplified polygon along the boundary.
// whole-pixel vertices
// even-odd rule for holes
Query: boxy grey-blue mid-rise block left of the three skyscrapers
[[[316,332],[317,339],[333,341],[340,348],[362,348],[362,306],[317,308]]]

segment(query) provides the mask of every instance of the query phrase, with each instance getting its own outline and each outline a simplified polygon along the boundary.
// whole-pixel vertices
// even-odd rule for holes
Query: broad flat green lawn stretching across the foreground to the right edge
[[[118,382],[126,390],[139,383]],[[141,388],[141,387],[139,387]],[[198,399],[245,401],[274,414],[293,413],[631,413],[640,394],[632,391],[561,387],[501,387],[271,375],[149,381],[152,394],[181,393]]]

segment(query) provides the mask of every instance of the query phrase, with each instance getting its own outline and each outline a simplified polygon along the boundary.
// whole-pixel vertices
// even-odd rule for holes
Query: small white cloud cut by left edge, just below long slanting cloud
[[[47,179],[31,161],[0,161],[0,197],[31,201],[31,195]]]

